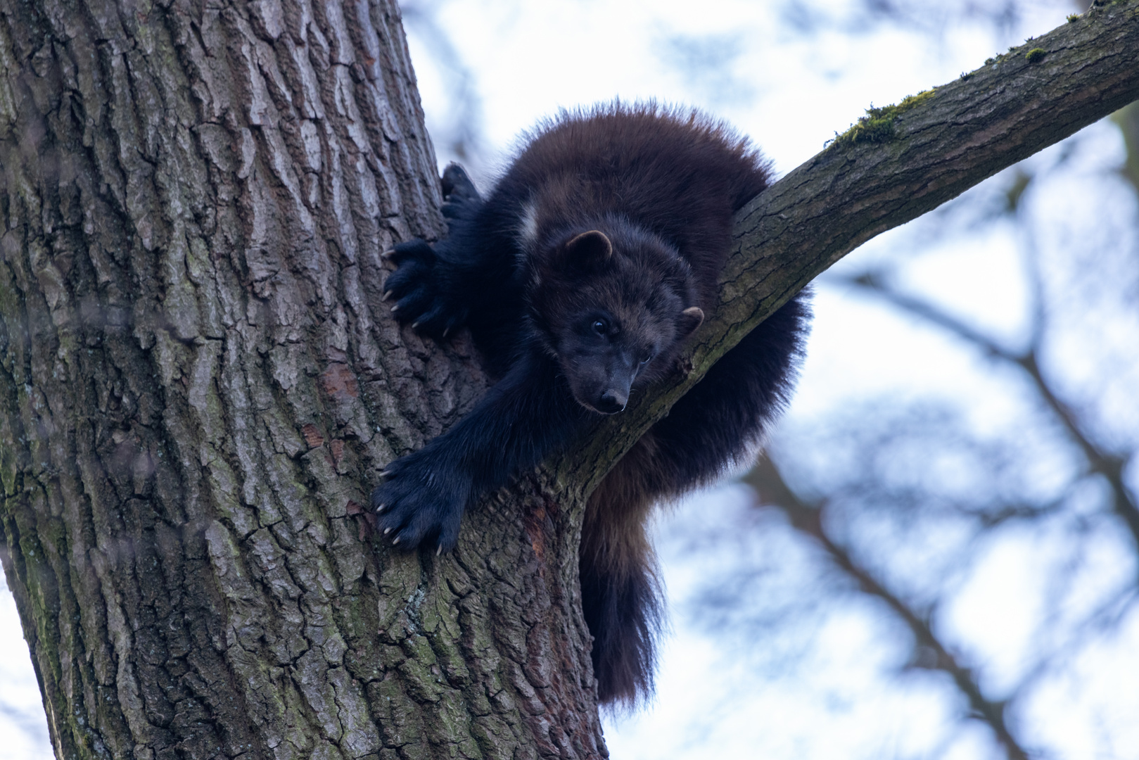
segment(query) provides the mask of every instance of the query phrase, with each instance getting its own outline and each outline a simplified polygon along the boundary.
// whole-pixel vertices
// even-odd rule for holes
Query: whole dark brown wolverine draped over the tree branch
[[[732,213],[767,182],[759,155],[722,125],[655,106],[542,125],[485,202],[449,166],[450,236],[396,246],[387,295],[427,334],[469,326],[500,379],[446,434],[388,466],[372,495],[384,533],[450,548],[480,496],[672,371],[715,304]],[[603,703],[652,688],[652,506],[751,455],[786,401],[806,320],[795,297],[748,334],[590,497],[581,587]]]

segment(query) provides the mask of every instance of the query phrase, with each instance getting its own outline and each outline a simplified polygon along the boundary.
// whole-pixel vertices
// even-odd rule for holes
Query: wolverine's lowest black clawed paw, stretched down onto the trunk
[[[396,459],[384,483],[371,493],[380,534],[393,546],[413,549],[435,544],[436,553],[454,548],[470,483],[453,468],[424,452]]]

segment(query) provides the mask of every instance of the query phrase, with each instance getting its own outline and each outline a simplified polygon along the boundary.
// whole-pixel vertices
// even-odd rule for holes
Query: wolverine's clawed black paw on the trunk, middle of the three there
[[[401,243],[391,258],[399,269],[384,284],[384,300],[395,301],[392,312],[400,321],[436,338],[446,337],[466,321],[466,310],[440,287],[437,259],[429,245],[423,240]]]

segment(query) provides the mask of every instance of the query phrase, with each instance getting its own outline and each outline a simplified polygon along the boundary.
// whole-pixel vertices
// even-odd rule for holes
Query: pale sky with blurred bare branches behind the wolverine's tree
[[[484,187],[509,134],[613,95],[714,111],[787,171],[871,100],[1085,10],[403,8],[441,162]],[[1132,105],[821,278],[770,457],[661,523],[674,634],[613,757],[1139,757],[1137,232]],[[0,757],[50,757],[19,678]]]

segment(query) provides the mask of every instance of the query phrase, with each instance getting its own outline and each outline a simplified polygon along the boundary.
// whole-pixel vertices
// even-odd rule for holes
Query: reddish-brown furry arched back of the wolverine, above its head
[[[748,141],[698,112],[613,104],[539,125],[489,203],[530,198],[536,237],[620,213],[674,245],[711,305],[731,214],[767,187]]]

